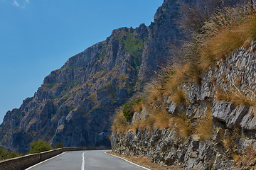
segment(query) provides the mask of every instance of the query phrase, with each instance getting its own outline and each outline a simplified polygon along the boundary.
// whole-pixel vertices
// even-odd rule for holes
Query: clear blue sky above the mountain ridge
[[[113,29],[149,26],[164,0],[0,0],[0,123],[68,58]]]

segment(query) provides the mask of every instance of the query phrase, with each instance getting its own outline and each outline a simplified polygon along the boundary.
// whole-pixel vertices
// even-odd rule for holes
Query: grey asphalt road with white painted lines
[[[122,159],[105,154],[107,150],[64,152],[29,170],[142,170]],[[26,169],[26,170],[28,170]],[[144,169],[145,170],[145,169]]]

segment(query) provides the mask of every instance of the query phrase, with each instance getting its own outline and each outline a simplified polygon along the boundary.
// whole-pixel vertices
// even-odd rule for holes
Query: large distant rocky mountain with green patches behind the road
[[[154,76],[159,63],[173,60],[169,45],[181,36],[174,22],[177,6],[164,1],[149,27],[113,30],[107,40],[51,72],[33,97],[6,113],[0,145],[18,152],[26,152],[35,140],[65,147],[110,145],[115,108]]]

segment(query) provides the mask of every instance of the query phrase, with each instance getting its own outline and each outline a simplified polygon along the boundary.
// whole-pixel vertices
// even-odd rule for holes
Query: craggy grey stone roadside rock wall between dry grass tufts
[[[186,169],[255,168],[255,162],[244,166],[245,160],[250,160],[256,153],[255,107],[216,100],[217,89],[223,89],[223,94],[233,92],[243,94],[245,98],[255,98],[252,92],[256,90],[255,46],[256,42],[252,42],[249,47],[240,48],[230,57],[219,61],[215,67],[203,72],[201,84],[191,81],[182,84],[181,89],[185,92],[188,103],[177,105],[169,101],[167,112],[185,112],[192,122],[205,116],[207,108],[212,106],[213,125],[205,125],[206,128],[211,128],[212,135],[208,140],[202,140],[196,133],[184,139],[174,129],[142,129],[121,134],[114,131],[114,152],[146,156],[152,162],[181,165]],[[140,118],[139,113],[134,114],[134,117]],[[237,164],[238,159],[234,155],[239,155],[243,162]]]

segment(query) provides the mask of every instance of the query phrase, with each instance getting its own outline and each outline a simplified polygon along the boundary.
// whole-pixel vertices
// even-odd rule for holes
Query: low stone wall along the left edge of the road
[[[16,157],[13,159],[6,159],[4,161],[0,161],[0,169],[1,170],[24,170],[34,164],[38,164],[39,162],[43,162],[46,159],[51,157],[55,157],[62,152],[69,151],[80,151],[80,150],[107,150],[112,149],[111,147],[63,147],[60,149],[53,149],[46,152],[41,152],[38,154],[28,154],[23,157]]]

